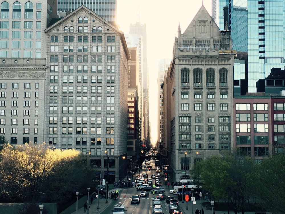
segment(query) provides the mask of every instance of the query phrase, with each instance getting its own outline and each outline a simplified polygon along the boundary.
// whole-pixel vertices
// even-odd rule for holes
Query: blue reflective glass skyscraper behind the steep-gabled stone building
[[[285,1],[213,0],[212,17],[220,29],[225,6],[229,7],[233,49],[248,53],[249,92],[256,92],[256,81],[266,78],[271,68],[285,65]]]

